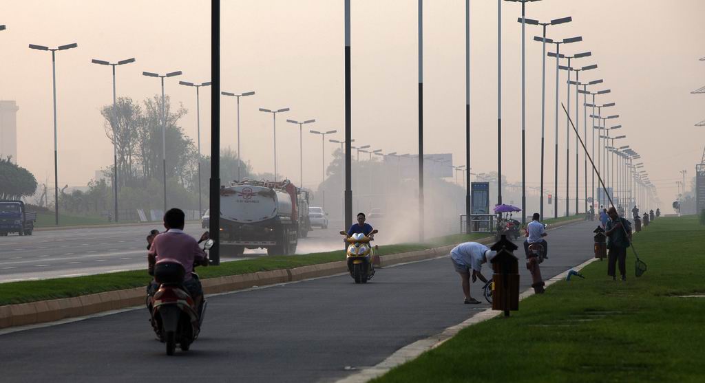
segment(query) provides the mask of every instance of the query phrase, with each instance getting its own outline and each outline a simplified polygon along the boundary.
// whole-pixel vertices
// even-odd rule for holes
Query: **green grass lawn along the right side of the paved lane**
[[[374,382],[705,382],[705,226],[658,218],[635,234],[649,270],[613,282],[606,262],[553,284],[510,318],[463,329]]]

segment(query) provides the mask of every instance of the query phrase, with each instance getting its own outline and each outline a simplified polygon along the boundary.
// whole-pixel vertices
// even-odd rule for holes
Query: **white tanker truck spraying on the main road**
[[[221,186],[220,241],[232,249],[226,251],[236,256],[245,249],[266,249],[278,256],[295,253],[299,193],[289,180],[243,180]]]

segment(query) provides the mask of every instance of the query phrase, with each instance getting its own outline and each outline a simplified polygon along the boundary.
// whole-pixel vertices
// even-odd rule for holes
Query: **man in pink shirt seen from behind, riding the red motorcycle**
[[[186,271],[183,278],[183,287],[196,303],[197,312],[201,311],[203,301],[203,288],[197,275],[192,275],[194,263],[207,266],[208,258],[206,253],[198,244],[208,239],[208,232],[205,232],[200,241],[183,232],[185,224],[185,214],[178,208],[169,209],[164,214],[164,227],[166,232],[161,234],[150,234],[147,237],[149,243],[149,253],[147,253],[147,263],[149,265],[149,275],[154,275],[154,265],[161,259],[176,260]],[[147,286],[147,294],[154,296],[159,290],[159,284],[152,280]]]

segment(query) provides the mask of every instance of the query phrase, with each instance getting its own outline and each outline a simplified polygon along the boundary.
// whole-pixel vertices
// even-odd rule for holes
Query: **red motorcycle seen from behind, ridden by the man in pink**
[[[208,251],[214,241],[207,239],[203,250]],[[204,262],[207,264],[208,259]],[[196,263],[194,265],[199,265]],[[197,307],[194,299],[183,287],[185,269],[181,263],[168,258],[154,264],[154,281],[159,290],[154,296],[147,296],[150,322],[157,338],[166,344],[166,355],[173,355],[178,344],[181,351],[188,351],[198,337],[206,313],[207,301],[202,299]],[[198,275],[193,272],[194,277]]]

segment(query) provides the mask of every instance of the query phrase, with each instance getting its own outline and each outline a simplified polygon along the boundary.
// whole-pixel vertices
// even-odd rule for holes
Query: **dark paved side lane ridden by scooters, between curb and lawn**
[[[549,232],[546,279],[593,256],[594,222]],[[486,276],[489,268],[484,268]],[[520,267],[522,290],[529,286]],[[478,286],[473,295],[480,297]],[[551,294],[548,289],[546,294]],[[200,339],[167,357],[144,309],[0,335],[4,382],[329,382],[376,365],[488,305],[462,304],[448,258],[209,298]]]

